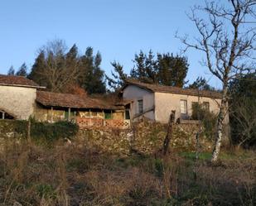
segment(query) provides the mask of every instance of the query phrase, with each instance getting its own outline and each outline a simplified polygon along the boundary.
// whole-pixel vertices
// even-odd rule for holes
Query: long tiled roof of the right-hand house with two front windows
[[[221,98],[221,93],[215,91],[206,91],[197,89],[182,89],[179,87],[163,86],[159,84],[146,84],[139,82],[138,80],[128,79],[123,89],[128,85],[136,85],[142,89],[150,90],[153,93],[179,93],[191,96],[207,97],[207,98]]]

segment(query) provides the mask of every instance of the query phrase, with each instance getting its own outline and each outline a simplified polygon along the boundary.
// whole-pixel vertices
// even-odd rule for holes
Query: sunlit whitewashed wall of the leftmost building
[[[0,85],[0,110],[17,119],[28,119],[34,112],[36,89]]]

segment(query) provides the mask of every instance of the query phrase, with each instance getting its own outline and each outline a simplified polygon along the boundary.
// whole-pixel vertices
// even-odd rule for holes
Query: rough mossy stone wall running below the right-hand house
[[[170,147],[175,151],[196,151],[196,124],[176,124]],[[154,122],[138,122],[133,129],[101,131],[81,130],[75,143],[96,148],[97,151],[128,155],[135,152],[143,155],[157,153],[167,135],[167,125]],[[200,150],[211,150],[212,142],[200,137]]]

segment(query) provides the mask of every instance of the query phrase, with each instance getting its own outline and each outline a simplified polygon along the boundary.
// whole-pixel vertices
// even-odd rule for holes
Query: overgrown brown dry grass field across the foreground
[[[256,205],[256,156],[232,151],[219,165],[191,157],[99,155],[84,146],[7,141],[0,205]]]

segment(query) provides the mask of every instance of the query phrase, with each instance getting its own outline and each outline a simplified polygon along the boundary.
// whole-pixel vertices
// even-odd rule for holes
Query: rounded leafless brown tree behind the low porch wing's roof
[[[66,85],[73,84],[81,74],[78,57],[75,45],[67,50],[65,41],[49,41],[39,49],[38,62],[35,64],[36,74],[46,80],[51,91],[60,92]],[[42,60],[39,62],[40,58]]]

